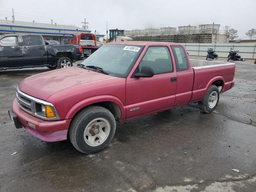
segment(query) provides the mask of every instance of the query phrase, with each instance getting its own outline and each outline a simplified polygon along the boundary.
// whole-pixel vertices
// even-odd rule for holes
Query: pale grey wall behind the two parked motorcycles
[[[256,59],[255,43],[182,43],[188,54],[192,56],[206,56],[207,49],[213,48],[219,57],[228,57],[230,48],[238,50],[241,58]]]

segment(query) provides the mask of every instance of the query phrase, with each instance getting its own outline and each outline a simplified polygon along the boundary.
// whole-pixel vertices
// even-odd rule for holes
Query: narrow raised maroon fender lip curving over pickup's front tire
[[[85,108],[88,105],[98,103],[98,102],[104,102],[104,101],[116,103],[121,111],[120,121],[121,122],[125,121],[126,107],[124,106],[124,104],[122,103],[122,101],[119,98],[112,96],[112,95],[94,96],[94,97],[86,98],[86,99],[76,103],[74,106],[72,106],[72,108],[70,108],[70,110],[68,110],[68,113],[66,114],[65,119],[72,119],[79,110],[81,110],[82,108]]]

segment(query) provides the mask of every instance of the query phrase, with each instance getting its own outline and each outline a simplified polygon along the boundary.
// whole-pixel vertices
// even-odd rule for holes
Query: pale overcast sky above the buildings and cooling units
[[[66,24],[82,27],[86,18],[89,29],[106,34],[108,29],[125,30],[220,24],[238,30],[246,39],[256,28],[256,0],[0,0],[0,19]]]

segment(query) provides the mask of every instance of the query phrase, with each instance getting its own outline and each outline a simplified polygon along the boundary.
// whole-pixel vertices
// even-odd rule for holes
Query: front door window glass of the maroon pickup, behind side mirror
[[[142,66],[152,67],[155,74],[173,72],[172,59],[168,48],[164,46],[149,47],[139,64],[139,70]]]

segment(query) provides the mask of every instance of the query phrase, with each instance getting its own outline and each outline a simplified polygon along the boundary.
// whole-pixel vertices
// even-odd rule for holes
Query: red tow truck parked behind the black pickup
[[[76,36],[78,36],[78,39],[76,39]],[[100,48],[100,46],[97,46],[95,34],[92,33],[80,33],[78,35],[74,35],[69,43],[80,44],[82,46],[84,56],[88,56]]]

